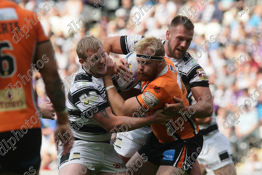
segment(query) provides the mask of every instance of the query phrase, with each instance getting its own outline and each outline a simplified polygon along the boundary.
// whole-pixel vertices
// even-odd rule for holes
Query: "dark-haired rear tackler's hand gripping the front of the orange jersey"
[[[177,103],[173,103],[173,104],[165,104],[165,108],[164,108],[164,113],[167,115],[172,115],[172,116],[180,116],[181,114],[179,113],[179,111],[184,111],[185,109],[185,104],[183,102],[182,99],[176,98],[174,97],[175,102]]]

